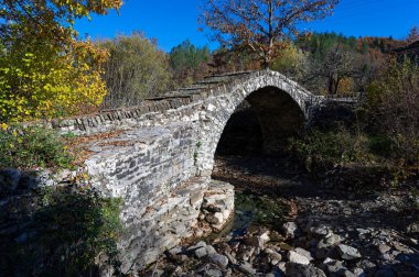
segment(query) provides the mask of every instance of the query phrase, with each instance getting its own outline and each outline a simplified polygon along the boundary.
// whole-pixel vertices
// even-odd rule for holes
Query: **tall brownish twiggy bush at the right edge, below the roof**
[[[367,132],[391,141],[391,157],[419,164],[419,66],[393,57],[373,84],[365,104]]]

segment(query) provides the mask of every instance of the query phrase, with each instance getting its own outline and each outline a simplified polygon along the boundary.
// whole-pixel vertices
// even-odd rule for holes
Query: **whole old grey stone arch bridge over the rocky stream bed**
[[[86,143],[84,164],[97,189],[123,199],[122,269],[142,267],[193,235],[219,137],[245,100],[266,153],[331,102],[262,70],[213,76],[138,107],[51,122],[62,133],[99,137]]]

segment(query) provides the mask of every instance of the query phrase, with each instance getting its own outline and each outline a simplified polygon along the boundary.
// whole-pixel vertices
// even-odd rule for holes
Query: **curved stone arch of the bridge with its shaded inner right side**
[[[215,151],[223,131],[236,108],[244,100],[257,109],[256,113],[259,123],[261,123],[264,141],[275,142],[280,140],[278,131],[293,131],[287,128],[282,130],[278,128],[283,123],[283,120],[304,123],[310,119],[314,99],[315,97],[312,93],[298,84],[270,70],[262,71],[258,76],[251,76],[249,79],[232,86],[226,93],[208,98],[200,112],[195,160],[197,175],[211,176]],[[276,110],[277,107],[282,107],[282,109]],[[287,113],[286,110],[288,112],[291,110],[291,113]],[[277,146],[271,143],[271,145],[265,145],[264,151],[275,152]]]

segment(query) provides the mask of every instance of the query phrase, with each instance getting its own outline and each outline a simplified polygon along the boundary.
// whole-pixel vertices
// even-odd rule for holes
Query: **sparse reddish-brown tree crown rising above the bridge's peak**
[[[230,48],[256,53],[268,67],[287,40],[299,33],[298,24],[331,14],[339,0],[205,0],[202,24],[214,38]]]

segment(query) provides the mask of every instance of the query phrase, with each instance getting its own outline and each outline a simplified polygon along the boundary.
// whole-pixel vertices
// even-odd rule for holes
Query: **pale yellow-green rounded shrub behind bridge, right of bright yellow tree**
[[[96,45],[109,53],[103,79],[107,95],[104,109],[135,106],[171,88],[168,56],[143,34],[118,35]]]

